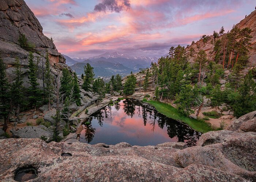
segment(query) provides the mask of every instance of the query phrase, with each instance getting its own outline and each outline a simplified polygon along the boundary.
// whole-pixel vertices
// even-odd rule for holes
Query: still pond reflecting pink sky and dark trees
[[[152,106],[131,99],[117,100],[84,120],[80,142],[147,146],[185,142],[195,146],[200,132],[166,117]]]

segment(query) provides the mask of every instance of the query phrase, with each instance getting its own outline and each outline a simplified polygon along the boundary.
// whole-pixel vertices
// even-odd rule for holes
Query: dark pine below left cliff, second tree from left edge
[[[22,86],[23,84],[23,72],[21,71],[21,63],[18,58],[15,59],[15,71],[14,71],[14,83],[11,87],[11,97],[12,97],[12,103],[16,107],[16,115],[17,115],[17,121],[19,121],[19,112],[20,107],[26,104],[25,101],[25,88]]]

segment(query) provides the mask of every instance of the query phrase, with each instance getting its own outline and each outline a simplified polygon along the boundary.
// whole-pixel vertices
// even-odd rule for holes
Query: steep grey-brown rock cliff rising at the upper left
[[[24,34],[33,46],[35,60],[39,60],[39,67],[45,64],[46,52],[49,53],[53,73],[67,67],[65,58],[57,51],[53,41],[46,37],[43,28],[34,13],[24,0],[1,0],[0,3],[0,58],[7,64],[7,76],[11,82],[13,78],[14,62],[18,57],[22,61],[22,71],[25,75],[24,85],[27,86],[28,55],[29,52],[20,47],[19,36]],[[42,80],[39,79],[42,84]]]

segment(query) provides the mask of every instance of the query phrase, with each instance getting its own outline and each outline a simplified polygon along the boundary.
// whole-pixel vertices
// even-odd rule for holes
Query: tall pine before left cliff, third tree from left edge
[[[38,88],[39,83],[37,82],[37,65],[34,62],[34,55],[32,52],[29,53],[29,101],[35,108],[41,101],[41,90]]]

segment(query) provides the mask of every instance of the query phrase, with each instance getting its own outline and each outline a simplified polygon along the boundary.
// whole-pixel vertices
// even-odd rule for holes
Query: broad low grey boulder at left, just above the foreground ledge
[[[39,126],[26,126],[18,130],[11,130],[14,138],[41,138],[45,136],[46,141],[51,141],[53,136],[53,131],[49,128],[39,125]]]

